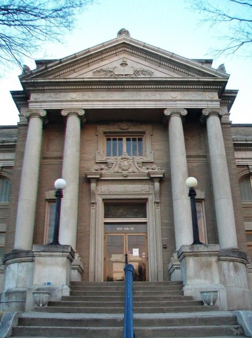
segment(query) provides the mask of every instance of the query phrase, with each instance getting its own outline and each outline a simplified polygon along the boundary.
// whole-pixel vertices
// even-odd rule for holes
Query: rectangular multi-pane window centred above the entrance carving
[[[143,156],[142,136],[106,137],[106,156]]]

